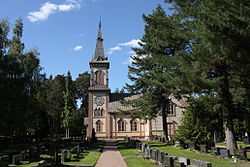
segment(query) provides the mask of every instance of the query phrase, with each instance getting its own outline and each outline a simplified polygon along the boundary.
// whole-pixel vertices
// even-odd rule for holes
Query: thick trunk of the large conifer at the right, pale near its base
[[[237,144],[234,136],[234,128],[232,121],[232,97],[229,92],[228,69],[227,64],[224,62],[220,66],[220,90],[219,96],[221,100],[221,110],[223,115],[223,125],[225,129],[227,149],[234,153],[237,149]]]

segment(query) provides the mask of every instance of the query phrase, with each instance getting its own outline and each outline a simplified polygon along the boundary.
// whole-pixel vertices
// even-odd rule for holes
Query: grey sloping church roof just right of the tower
[[[128,111],[134,109],[132,106],[124,106],[121,104],[121,100],[133,100],[137,99],[141,94],[132,94],[132,93],[111,93],[110,102],[108,109],[110,112],[117,112],[119,110]]]

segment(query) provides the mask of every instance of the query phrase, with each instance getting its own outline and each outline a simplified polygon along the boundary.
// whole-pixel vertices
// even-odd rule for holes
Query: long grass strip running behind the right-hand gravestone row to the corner
[[[164,151],[169,155],[177,156],[177,157],[185,157],[189,159],[199,159],[206,162],[211,162],[213,167],[250,167],[250,162],[232,162],[232,159],[224,159],[221,157],[215,157],[210,154],[199,153],[197,151],[192,151],[189,149],[181,149],[175,148],[173,146],[167,146],[158,141],[150,141],[145,142],[148,145],[159,149],[160,151]]]

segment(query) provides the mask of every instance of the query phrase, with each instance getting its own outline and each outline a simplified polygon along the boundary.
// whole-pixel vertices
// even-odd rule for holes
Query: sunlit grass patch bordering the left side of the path
[[[80,160],[74,160],[70,162],[65,162],[64,164],[81,164],[81,165],[95,165],[100,157],[100,152],[89,151],[88,153],[81,153]],[[74,155],[73,155],[74,156]]]

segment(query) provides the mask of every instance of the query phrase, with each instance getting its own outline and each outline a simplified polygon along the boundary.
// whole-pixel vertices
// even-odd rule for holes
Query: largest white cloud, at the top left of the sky
[[[29,12],[27,18],[30,22],[47,20],[48,17],[56,12],[67,12],[73,9],[80,9],[80,0],[67,0],[64,4],[54,4],[51,2],[44,3],[39,11]]]

